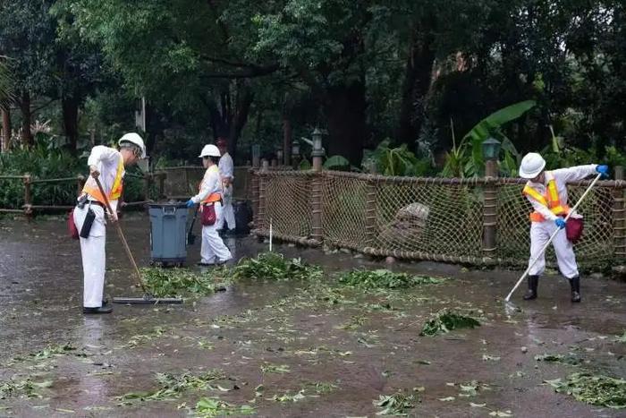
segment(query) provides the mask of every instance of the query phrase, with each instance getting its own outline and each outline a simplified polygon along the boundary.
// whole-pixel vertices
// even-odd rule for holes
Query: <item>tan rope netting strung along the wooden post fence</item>
[[[529,254],[531,205],[517,179],[425,179],[356,175],[324,171],[257,173],[263,209],[259,232],[302,241],[315,229],[311,193],[319,182],[321,239],[374,255],[426,260],[506,260],[522,265]],[[571,206],[588,183],[569,187]],[[615,254],[615,196],[623,182],[598,183],[579,207],[585,218],[583,239],[576,244],[579,260],[606,262]],[[495,193],[495,243],[483,243],[485,193]],[[621,193],[621,194],[620,194]],[[618,202],[619,203],[619,202]],[[618,228],[619,229],[619,228]],[[548,252],[554,260],[554,252]]]

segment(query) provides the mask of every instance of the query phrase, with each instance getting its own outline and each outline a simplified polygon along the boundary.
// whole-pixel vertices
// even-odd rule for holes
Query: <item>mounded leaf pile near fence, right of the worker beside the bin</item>
[[[254,280],[317,280],[322,269],[300,259],[286,260],[283,254],[263,252],[256,259],[242,259],[233,269],[233,277]]]

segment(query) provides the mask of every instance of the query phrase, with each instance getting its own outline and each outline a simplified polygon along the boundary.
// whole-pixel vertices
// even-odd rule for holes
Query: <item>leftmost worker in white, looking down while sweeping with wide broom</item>
[[[117,222],[117,202],[122,196],[124,167],[135,164],[140,158],[146,158],[146,146],[137,133],[131,132],[123,135],[119,146],[119,151],[103,145],[91,149],[87,161],[89,179],[85,182],[78,199],[79,204],[73,211],[74,224],[81,232],[83,313],[113,311],[103,298],[106,269],[106,200],[98,189],[95,179],[99,178],[111,209],[114,210],[114,213],[108,214],[109,220]],[[87,227],[83,230],[86,218],[93,218],[89,230]]]

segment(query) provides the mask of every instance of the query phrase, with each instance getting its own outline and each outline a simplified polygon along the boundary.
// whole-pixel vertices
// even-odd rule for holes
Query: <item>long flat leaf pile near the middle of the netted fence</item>
[[[419,285],[437,285],[443,281],[444,278],[393,273],[393,271],[387,269],[356,269],[343,273],[339,277],[341,284],[356,286],[361,289],[406,289]]]

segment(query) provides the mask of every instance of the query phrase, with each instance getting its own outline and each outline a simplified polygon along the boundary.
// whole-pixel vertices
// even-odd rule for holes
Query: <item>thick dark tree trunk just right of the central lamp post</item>
[[[353,166],[360,166],[366,135],[365,82],[331,87],[326,91],[328,119],[328,157],[341,155]]]

